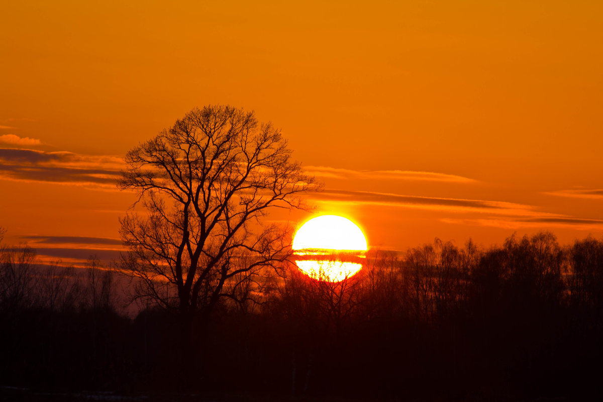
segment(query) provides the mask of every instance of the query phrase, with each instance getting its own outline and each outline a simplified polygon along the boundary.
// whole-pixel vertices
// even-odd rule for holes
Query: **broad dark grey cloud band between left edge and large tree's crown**
[[[94,184],[115,189],[122,159],[108,155],[0,148],[0,178],[62,184]]]

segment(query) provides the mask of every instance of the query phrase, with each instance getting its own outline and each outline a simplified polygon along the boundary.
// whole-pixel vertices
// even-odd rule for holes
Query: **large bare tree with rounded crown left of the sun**
[[[188,342],[197,318],[250,283],[242,275],[289,256],[290,234],[267,214],[304,208],[299,195],[320,187],[280,130],[229,106],[194,108],[125,162],[118,187],[134,190],[146,213],[120,219],[121,268],[139,280],[137,297],[180,313]]]

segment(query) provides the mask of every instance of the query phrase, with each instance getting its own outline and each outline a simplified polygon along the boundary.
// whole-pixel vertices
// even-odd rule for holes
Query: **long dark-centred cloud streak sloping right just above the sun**
[[[474,212],[496,213],[497,215],[532,216],[535,214],[532,206],[482,199],[438,198],[353,190],[324,190],[309,195],[309,197],[317,201],[356,205],[382,205],[432,210],[472,210]]]

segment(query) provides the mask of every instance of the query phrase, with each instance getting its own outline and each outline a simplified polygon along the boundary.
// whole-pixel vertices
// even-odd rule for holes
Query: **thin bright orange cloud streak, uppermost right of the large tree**
[[[421,180],[421,181],[447,181],[450,183],[475,183],[471,178],[435,172],[418,171],[355,171],[352,169],[330,168],[328,166],[306,166],[307,174],[324,178],[337,178],[342,180]]]

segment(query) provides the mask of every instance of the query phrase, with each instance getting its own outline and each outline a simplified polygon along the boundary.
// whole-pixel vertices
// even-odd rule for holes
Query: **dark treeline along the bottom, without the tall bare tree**
[[[34,261],[30,248],[2,248],[4,385],[402,400],[602,391],[603,241],[592,237],[371,251],[339,283],[287,266],[198,323],[192,366],[178,356],[176,317],[153,305],[118,313],[116,274],[98,261]]]

